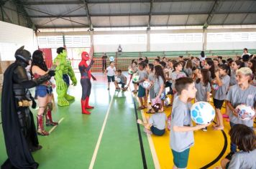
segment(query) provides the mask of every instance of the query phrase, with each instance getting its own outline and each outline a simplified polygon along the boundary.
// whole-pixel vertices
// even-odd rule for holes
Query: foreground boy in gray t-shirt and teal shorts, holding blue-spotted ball
[[[173,102],[170,127],[170,148],[173,153],[173,168],[186,168],[191,146],[194,145],[193,131],[207,127],[207,125],[193,126],[191,122],[191,98],[196,96],[193,79],[181,77],[176,79],[175,89],[178,97]]]

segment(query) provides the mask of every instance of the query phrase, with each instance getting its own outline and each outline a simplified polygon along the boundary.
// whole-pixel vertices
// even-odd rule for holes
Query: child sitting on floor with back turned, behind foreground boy
[[[142,120],[138,119],[137,122],[140,125],[143,125],[144,131],[147,134],[154,134],[154,135],[164,135],[165,134],[165,122],[167,120],[167,117],[165,115],[165,112],[159,112],[161,110],[161,104],[156,103],[155,105],[152,106],[152,109],[156,112],[154,115],[150,117],[148,120],[148,123],[142,122]]]

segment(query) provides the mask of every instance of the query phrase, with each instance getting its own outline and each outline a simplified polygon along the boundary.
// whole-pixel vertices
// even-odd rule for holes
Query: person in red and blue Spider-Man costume
[[[90,115],[91,112],[88,112],[86,109],[93,109],[94,107],[89,106],[89,97],[91,95],[91,77],[93,80],[96,80],[95,77],[91,74],[91,66],[94,61],[91,60],[90,64],[87,64],[89,60],[89,54],[87,52],[82,52],[81,54],[82,60],[79,63],[79,71],[81,73],[81,86],[82,86],[82,97],[81,97],[81,107],[82,113],[86,115]]]

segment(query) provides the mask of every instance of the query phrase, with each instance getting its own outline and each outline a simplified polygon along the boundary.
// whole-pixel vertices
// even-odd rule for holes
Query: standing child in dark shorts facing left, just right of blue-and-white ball
[[[221,114],[221,107],[227,96],[227,91],[229,90],[229,67],[227,64],[219,65],[219,70],[215,72],[215,79],[211,82],[214,87],[214,107],[216,111],[217,122],[214,125],[214,130],[223,130],[223,117]]]

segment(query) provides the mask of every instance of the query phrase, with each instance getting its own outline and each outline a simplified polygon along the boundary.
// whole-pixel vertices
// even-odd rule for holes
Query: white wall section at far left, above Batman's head
[[[0,60],[14,60],[14,53],[25,46],[29,52],[37,49],[37,39],[32,29],[0,21]]]

